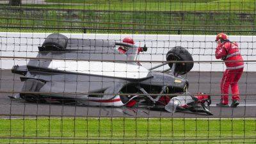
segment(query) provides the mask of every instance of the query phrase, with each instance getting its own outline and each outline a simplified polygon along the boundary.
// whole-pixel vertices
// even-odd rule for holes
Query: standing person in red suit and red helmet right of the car
[[[236,42],[230,42],[225,33],[220,33],[216,36],[215,56],[216,59],[225,61],[226,70],[221,79],[221,102],[216,104],[221,107],[228,107],[228,88],[231,86],[233,108],[239,105],[239,88],[238,81],[243,73],[244,63],[241,53]]]

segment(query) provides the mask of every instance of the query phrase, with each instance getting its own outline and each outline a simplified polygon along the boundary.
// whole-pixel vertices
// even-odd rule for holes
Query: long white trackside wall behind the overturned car
[[[38,46],[51,33],[0,33],[0,56],[36,57]],[[62,33],[68,38],[93,38],[120,41],[130,36],[136,45],[147,45],[148,51],[140,55],[139,60],[164,61],[171,47],[186,47],[195,61],[215,61],[214,51],[216,42],[214,35],[128,35],[128,34],[76,34]],[[238,42],[244,60],[256,60],[256,36],[230,36],[231,41]],[[29,60],[3,59],[1,69],[10,69],[13,65],[26,65]],[[221,60],[220,60],[221,61]],[[142,63],[146,68],[154,67],[159,63]],[[256,62],[245,63],[244,71],[255,72]],[[168,66],[158,68],[163,70]],[[223,63],[195,63],[192,71],[223,71]]]

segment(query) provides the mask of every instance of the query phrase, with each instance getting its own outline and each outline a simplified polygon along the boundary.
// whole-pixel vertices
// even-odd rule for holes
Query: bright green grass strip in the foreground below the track
[[[0,120],[0,143],[255,143],[255,132],[255,119],[37,118]],[[31,138],[38,138],[38,140]]]

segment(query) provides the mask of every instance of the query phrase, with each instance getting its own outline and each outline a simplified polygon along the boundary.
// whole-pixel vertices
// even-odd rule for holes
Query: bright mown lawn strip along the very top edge
[[[46,0],[52,8],[71,8],[86,10],[146,10],[146,11],[238,11],[252,12],[255,9],[253,0]],[[66,3],[66,4],[63,4]],[[70,4],[67,4],[70,3]],[[73,5],[72,5],[72,4]],[[26,5],[29,6],[29,5]],[[32,5],[31,5],[32,6]],[[47,8],[45,4],[38,7]]]

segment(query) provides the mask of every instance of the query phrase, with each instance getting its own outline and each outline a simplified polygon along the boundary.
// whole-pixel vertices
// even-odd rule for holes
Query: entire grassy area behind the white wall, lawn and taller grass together
[[[54,3],[68,1],[47,0]],[[256,2],[252,0],[69,2],[76,5],[22,4],[10,7],[0,4],[0,31],[256,35]]]

